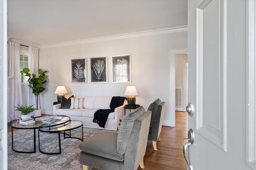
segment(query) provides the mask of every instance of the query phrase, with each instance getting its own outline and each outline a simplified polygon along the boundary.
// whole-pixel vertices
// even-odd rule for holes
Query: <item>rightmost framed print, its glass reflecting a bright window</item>
[[[112,56],[112,82],[131,82],[131,55]]]

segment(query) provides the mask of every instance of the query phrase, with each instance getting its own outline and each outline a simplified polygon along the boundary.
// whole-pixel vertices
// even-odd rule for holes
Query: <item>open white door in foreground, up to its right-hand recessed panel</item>
[[[245,0],[188,0],[188,102],[190,168],[249,170]]]

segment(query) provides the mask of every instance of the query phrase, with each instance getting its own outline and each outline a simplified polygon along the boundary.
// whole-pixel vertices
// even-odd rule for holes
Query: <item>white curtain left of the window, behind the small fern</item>
[[[8,115],[10,120],[18,119],[19,111],[14,106],[22,105],[21,80],[20,80],[20,44],[8,42]]]

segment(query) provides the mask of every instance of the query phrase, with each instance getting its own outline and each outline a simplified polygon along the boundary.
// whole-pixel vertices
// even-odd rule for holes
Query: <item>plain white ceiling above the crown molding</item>
[[[187,0],[8,0],[8,37],[46,45],[187,25]]]

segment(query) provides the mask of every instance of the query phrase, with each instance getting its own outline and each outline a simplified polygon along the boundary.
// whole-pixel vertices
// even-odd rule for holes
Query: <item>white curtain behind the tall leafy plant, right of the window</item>
[[[30,69],[30,73],[36,74],[38,76],[38,53],[39,49],[37,47],[28,47],[28,67]],[[28,106],[34,104],[34,107],[36,107],[36,96],[32,93],[32,89],[28,89],[28,99],[27,99]],[[38,108],[40,108],[40,100],[38,96]],[[34,115],[34,113],[31,113],[31,115]]]

